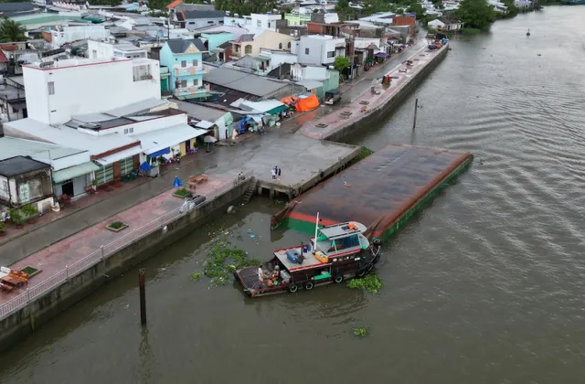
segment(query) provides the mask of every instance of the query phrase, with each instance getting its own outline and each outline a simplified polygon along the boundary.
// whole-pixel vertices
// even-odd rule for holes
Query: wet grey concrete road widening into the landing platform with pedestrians
[[[46,223],[41,229],[0,245],[0,265],[10,266],[82,229],[163,193],[173,187],[175,176],[186,182],[189,176],[202,173],[235,177],[240,171],[252,170],[257,179],[271,183],[271,168],[278,165],[282,168],[278,183],[294,188],[354,150],[355,147],[351,145],[315,141],[273,127],[265,135],[254,134],[249,140],[234,146],[217,146],[211,153],[199,151],[184,157],[180,165],[167,165],[163,175],[151,181],[97,201],[87,208]]]

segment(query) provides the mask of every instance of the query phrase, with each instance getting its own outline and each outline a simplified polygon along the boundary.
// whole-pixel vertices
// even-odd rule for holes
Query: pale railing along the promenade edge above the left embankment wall
[[[186,204],[184,204],[183,206],[165,213],[165,215],[161,216],[160,218],[154,219],[148,224],[144,224],[144,226],[140,228],[133,229],[130,233],[122,236],[121,238],[113,240],[111,243],[102,245],[99,250],[91,252],[89,255],[87,255],[80,261],[76,261],[75,263],[66,266],[64,270],[55,273],[47,280],[41,283],[37,283],[37,285],[31,288],[27,288],[27,291],[25,291],[24,293],[20,293],[9,302],[1,304],[0,319],[3,319],[8,315],[15,313],[16,311],[30,303],[32,300],[35,300],[37,297],[50,292],[52,289],[54,289],[61,283],[68,281],[71,277],[74,277],[80,274],[81,272],[87,271],[95,264],[107,259],[113,253],[122,250],[123,248],[132,244],[134,241],[140,240],[145,236],[148,236],[149,234],[153,233],[154,231],[165,227],[166,224],[170,223],[171,221],[181,216],[185,216],[187,213],[189,213],[189,211],[195,208],[205,206],[207,203],[213,201],[216,197],[220,196],[229,189],[247,182],[248,180],[250,180],[251,177],[253,177],[253,172],[252,171],[246,172],[245,174],[242,174],[203,194],[202,196],[205,197],[205,200],[203,198],[186,200]]]

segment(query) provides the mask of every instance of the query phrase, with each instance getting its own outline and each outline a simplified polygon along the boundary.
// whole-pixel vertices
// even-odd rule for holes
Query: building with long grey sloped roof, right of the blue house
[[[204,77],[211,85],[211,91],[221,94],[218,100],[229,105],[238,99],[263,101],[282,99],[285,96],[299,94],[302,86],[290,81],[267,79],[238,69],[220,67],[210,70]]]

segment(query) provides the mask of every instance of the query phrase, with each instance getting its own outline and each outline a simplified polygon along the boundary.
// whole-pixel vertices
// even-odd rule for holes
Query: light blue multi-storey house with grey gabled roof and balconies
[[[170,73],[169,86],[177,99],[204,99],[208,87],[203,86],[203,52],[207,48],[199,38],[190,40],[174,38],[167,40],[160,52],[161,66]]]

